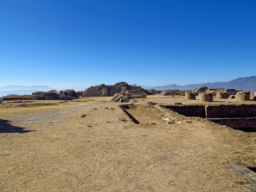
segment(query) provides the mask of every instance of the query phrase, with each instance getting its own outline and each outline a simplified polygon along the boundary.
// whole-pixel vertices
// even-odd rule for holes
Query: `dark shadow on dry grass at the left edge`
[[[27,133],[35,130],[27,130],[25,127],[17,127],[10,124],[11,121],[0,119],[0,133]]]

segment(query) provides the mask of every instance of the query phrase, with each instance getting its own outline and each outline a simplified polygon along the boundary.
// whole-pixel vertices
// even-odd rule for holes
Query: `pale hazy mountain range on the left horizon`
[[[48,92],[55,88],[48,87],[45,85],[40,86],[19,86],[19,85],[8,85],[4,87],[0,87],[0,96],[6,96],[9,94],[17,94],[17,95],[31,95],[33,92]],[[58,89],[55,89],[59,91]]]

